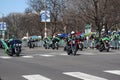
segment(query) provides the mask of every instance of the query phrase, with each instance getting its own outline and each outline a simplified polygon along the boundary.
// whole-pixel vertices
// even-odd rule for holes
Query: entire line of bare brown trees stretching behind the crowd
[[[29,35],[44,36],[44,23],[40,21],[41,10],[49,10],[51,22],[46,23],[48,34],[84,31],[86,23],[101,33],[105,26],[108,30],[118,29],[120,24],[119,0],[28,0],[29,7],[24,14],[11,13],[5,21],[9,34],[23,37]],[[45,5],[46,4],[46,5]],[[115,27],[114,27],[115,26]]]

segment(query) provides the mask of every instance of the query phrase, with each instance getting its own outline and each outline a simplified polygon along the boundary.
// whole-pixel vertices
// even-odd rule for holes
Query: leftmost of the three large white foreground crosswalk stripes
[[[35,75],[23,75],[22,77],[24,77],[27,80],[51,80],[47,77],[44,77],[42,75],[39,74],[35,74]]]

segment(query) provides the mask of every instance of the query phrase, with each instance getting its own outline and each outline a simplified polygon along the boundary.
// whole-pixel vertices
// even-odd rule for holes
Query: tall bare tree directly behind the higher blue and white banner
[[[57,23],[59,23],[60,13],[62,13],[64,0],[28,0],[30,8],[40,15],[41,10],[49,10],[51,12],[51,25],[47,26],[50,29],[53,36],[57,29]],[[41,23],[42,24],[42,23]],[[49,23],[47,23],[48,25]],[[43,31],[43,30],[42,30]]]

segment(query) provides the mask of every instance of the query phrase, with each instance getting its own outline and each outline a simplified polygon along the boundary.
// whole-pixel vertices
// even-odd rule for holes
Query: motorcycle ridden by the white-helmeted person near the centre
[[[68,55],[76,55],[76,53],[77,53],[77,42],[76,42],[76,40],[75,39],[72,39],[72,40],[70,40],[69,42],[67,42],[67,45],[65,46],[65,48],[66,48],[66,52],[67,52],[67,54]]]

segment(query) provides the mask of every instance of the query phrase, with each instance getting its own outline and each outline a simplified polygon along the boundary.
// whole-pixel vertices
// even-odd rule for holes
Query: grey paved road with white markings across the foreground
[[[20,57],[0,50],[2,80],[120,80],[120,50],[78,51],[68,56],[63,48],[24,48]]]

